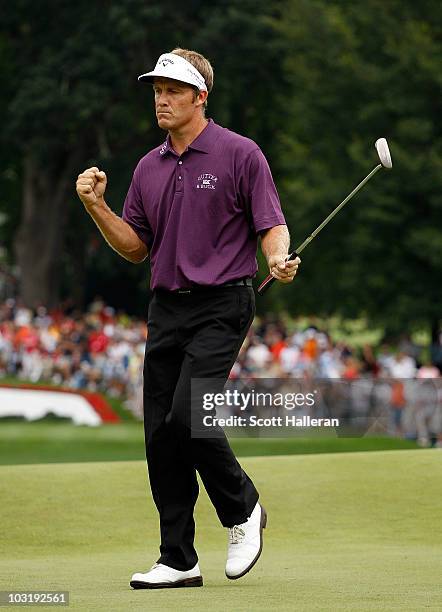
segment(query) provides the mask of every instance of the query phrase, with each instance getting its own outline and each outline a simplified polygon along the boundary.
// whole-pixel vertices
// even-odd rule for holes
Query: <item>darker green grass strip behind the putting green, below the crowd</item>
[[[416,448],[392,438],[232,438],[240,456],[293,455]],[[0,422],[0,465],[144,459],[142,423],[101,427],[75,426],[58,420]]]

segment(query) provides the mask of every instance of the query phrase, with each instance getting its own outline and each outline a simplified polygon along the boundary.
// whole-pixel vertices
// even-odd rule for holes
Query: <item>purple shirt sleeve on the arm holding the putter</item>
[[[286,224],[269,164],[259,148],[246,160],[244,187],[248,215],[256,233]]]

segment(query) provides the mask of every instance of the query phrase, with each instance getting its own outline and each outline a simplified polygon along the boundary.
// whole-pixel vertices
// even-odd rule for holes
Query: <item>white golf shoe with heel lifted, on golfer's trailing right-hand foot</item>
[[[245,523],[229,528],[226,576],[241,578],[252,569],[262,551],[262,530],[267,524],[267,513],[259,503]]]

